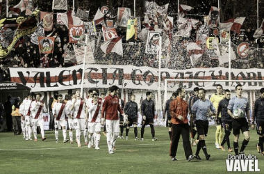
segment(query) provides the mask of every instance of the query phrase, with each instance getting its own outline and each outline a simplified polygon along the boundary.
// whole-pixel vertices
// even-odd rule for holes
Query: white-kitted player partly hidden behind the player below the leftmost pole
[[[72,134],[72,129],[74,128],[74,118],[73,118],[73,111],[71,111],[71,106],[73,103],[73,100],[76,100],[76,94],[72,94],[72,100],[69,100],[65,106],[65,113],[66,116],[68,117],[68,127],[69,127],[69,142],[71,144],[74,143],[73,140],[73,134]]]

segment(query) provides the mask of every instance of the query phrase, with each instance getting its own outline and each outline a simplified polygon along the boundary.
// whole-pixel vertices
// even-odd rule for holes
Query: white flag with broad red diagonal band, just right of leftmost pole
[[[101,45],[101,50],[105,54],[110,54],[111,52],[115,52],[120,56],[123,56],[123,46],[122,46],[121,37],[107,40]]]

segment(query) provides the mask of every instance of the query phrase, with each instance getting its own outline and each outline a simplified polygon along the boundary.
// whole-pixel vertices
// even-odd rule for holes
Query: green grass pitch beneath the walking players
[[[145,141],[133,139],[133,128],[129,140],[118,139],[115,154],[109,155],[106,136],[102,134],[100,150],[88,149],[81,137],[82,147],[77,144],[63,143],[62,131],[59,131],[59,143],[55,143],[53,131],[47,131],[47,141],[25,141],[13,133],[0,133],[0,173],[225,173],[228,151],[215,149],[215,126],[209,128],[206,137],[210,161],[206,161],[201,150],[201,160],[186,161],[182,141],[176,155],[178,161],[169,156],[170,141],[167,127],[155,127],[158,141],[151,141],[150,128],[145,129]],[[125,134],[125,131],[124,131]],[[140,137],[140,128],[138,128]],[[256,130],[250,130],[251,139],[245,150],[246,155],[257,155],[261,172],[264,172],[264,156],[256,152],[258,136]],[[67,132],[68,136],[68,132]],[[75,136],[75,132],[74,132]],[[243,140],[240,134],[240,145]],[[231,134],[233,148],[233,135]],[[192,147],[195,153],[196,146]],[[234,152],[231,152],[234,155]],[[245,172],[244,172],[245,173]]]

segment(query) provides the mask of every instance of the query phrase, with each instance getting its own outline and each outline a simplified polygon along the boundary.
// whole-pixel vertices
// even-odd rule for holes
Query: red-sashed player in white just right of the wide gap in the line
[[[63,129],[63,143],[67,143],[69,140],[67,139],[67,130],[66,130],[66,103],[63,102],[63,95],[58,95],[58,101],[53,104],[52,113],[55,118],[54,127],[55,127],[55,139],[56,143],[58,143],[58,127],[59,125]]]

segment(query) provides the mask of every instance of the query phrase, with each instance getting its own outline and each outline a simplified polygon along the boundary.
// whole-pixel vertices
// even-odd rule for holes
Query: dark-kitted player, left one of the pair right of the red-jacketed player
[[[129,128],[131,125],[134,127],[135,140],[138,139],[138,104],[135,102],[135,95],[131,95],[131,100],[124,106],[124,113],[127,118],[124,118],[126,124],[126,140],[129,139]],[[126,121],[127,119],[127,121]]]

